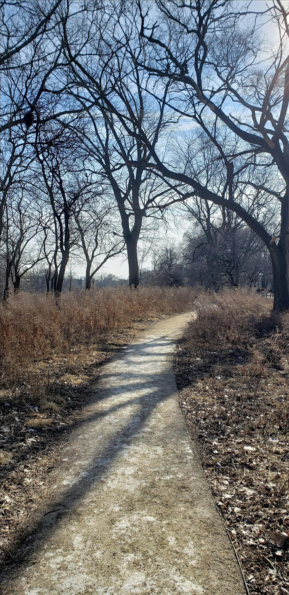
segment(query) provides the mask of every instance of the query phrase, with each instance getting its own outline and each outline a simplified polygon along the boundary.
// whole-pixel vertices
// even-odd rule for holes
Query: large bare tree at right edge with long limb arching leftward
[[[140,0],[138,4],[140,35],[146,40],[147,48],[146,60],[140,61],[139,67],[152,79],[163,80],[164,84],[171,82],[169,108],[191,118],[206,131],[219,150],[220,167],[222,162],[227,169],[227,181],[222,192],[216,193],[186,170],[165,165],[142,131],[140,136],[153,157],[147,167],[157,168],[168,179],[183,183],[203,201],[235,212],[257,233],[271,255],[274,308],[286,310],[289,308],[289,145],[286,136],[289,57],[285,54],[288,13],[279,1],[272,2],[263,13],[255,14],[250,13],[250,5],[244,11],[234,11],[234,4],[221,0],[208,3],[157,0],[146,12]],[[271,53],[263,53],[265,47],[258,36],[262,19],[259,23],[258,17],[262,17],[263,22],[270,21],[279,34],[279,45],[272,48]],[[232,139],[240,140],[236,154],[226,154],[212,136],[206,126],[209,113],[216,123],[224,124]],[[265,190],[268,196],[279,201],[281,223],[276,236],[268,233],[232,193],[235,159],[240,156],[262,167],[274,164],[272,184]],[[255,182],[244,181],[248,189],[256,189]],[[252,193],[251,202],[253,200]]]

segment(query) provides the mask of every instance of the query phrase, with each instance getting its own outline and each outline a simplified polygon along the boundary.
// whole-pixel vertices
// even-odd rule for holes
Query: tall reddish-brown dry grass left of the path
[[[93,348],[105,345],[133,322],[192,307],[191,289],[99,289],[53,297],[22,293],[1,308],[2,388],[25,390],[47,407],[55,361],[65,372],[79,372]]]

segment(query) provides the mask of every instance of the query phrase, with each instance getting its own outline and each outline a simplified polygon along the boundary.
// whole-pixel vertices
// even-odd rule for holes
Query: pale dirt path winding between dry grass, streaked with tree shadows
[[[187,320],[152,325],[103,368],[10,593],[244,594],[178,406],[172,356]]]

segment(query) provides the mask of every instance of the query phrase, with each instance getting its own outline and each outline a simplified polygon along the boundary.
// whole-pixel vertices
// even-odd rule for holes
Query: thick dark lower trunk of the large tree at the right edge
[[[286,262],[288,255],[279,246],[271,248],[270,254],[274,279],[273,309],[278,312],[285,312],[289,310],[289,262]]]

